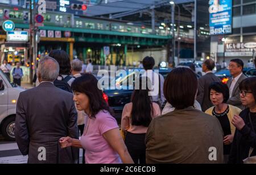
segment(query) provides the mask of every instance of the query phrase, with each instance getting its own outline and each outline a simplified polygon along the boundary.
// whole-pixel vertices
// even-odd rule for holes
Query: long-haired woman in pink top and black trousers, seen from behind
[[[125,144],[134,163],[146,163],[145,135],[152,118],[160,116],[160,108],[151,102],[146,87],[146,76],[139,79],[139,89],[135,89],[131,96],[131,103],[123,108],[121,127],[127,131]],[[148,79],[147,79],[148,80]],[[144,83],[144,86],[142,84]]]

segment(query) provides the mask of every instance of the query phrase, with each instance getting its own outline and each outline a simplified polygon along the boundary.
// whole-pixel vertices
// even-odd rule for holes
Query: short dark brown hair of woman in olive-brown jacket
[[[176,109],[193,106],[197,92],[195,73],[186,67],[172,70],[164,81],[164,96]]]

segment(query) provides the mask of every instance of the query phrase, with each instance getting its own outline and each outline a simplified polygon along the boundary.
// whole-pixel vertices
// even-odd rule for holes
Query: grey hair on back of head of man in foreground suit
[[[42,81],[53,82],[59,76],[59,63],[52,57],[46,56],[38,64],[38,75]]]

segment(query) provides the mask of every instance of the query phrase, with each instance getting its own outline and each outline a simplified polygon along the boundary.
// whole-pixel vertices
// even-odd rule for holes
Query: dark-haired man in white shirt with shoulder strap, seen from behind
[[[152,102],[158,103],[161,108],[162,105],[164,104],[164,101],[166,100],[163,94],[163,84],[164,84],[163,75],[157,74],[156,72],[153,71],[153,67],[155,65],[155,59],[153,57],[145,57],[142,61],[142,64],[143,64],[144,70],[146,70],[146,72],[144,72],[142,76],[147,76],[148,79],[150,79],[151,81],[152,88],[158,89],[157,92],[155,92],[155,90],[151,91]],[[160,82],[160,85],[159,85],[159,82]]]

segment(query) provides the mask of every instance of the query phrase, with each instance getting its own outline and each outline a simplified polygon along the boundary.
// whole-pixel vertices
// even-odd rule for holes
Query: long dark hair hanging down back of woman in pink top
[[[139,89],[133,91],[133,95],[131,96],[131,102],[133,103],[133,108],[131,109],[131,125],[142,125],[145,127],[150,125],[154,110],[152,107],[151,96],[148,95],[148,83],[151,82],[147,76],[143,76],[143,78],[140,77]],[[142,86],[142,84],[144,86]],[[149,87],[151,87],[151,84],[149,85]]]

